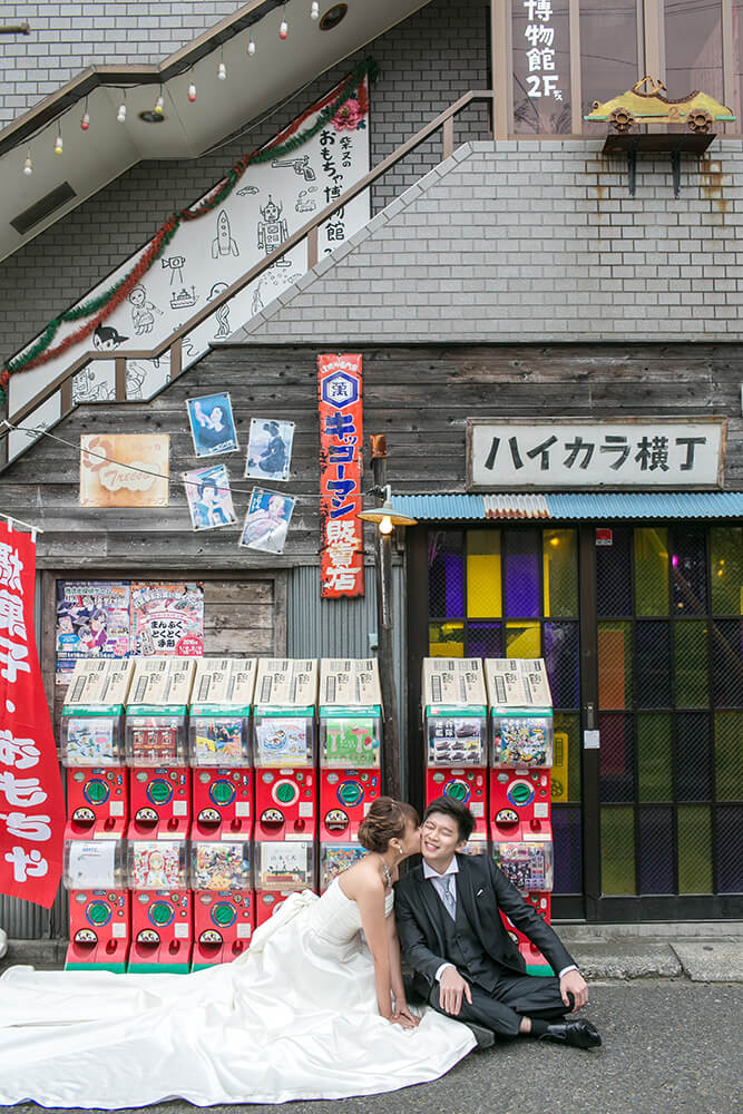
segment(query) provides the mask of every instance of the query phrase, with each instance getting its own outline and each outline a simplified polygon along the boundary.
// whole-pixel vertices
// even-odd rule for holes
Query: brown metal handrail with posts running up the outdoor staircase
[[[12,414],[8,416],[8,422],[12,427],[18,427],[22,422],[27,421],[33,416],[33,413],[39,410],[46,402],[48,402],[55,394],[60,395],[60,407],[59,417],[55,420],[53,424],[62,421],[67,418],[78,405],[85,403],[76,403],[72,400],[72,380],[88,364],[94,363],[97,360],[104,360],[107,363],[114,362],[115,365],[115,395],[114,400],[116,402],[129,402],[129,403],[141,403],[141,399],[127,399],[126,397],[126,365],[128,360],[157,360],[165,353],[169,353],[170,356],[170,379],[173,382],[183,372],[183,340],[188,333],[190,333],[197,325],[199,325],[207,317],[211,317],[216,313],[219,306],[229,302],[236,294],[245,289],[255,278],[258,278],[268,267],[273,266],[277,260],[282,258],[287,252],[291,252],[297,244],[303,241],[307,241],[307,271],[312,270],[317,263],[317,235],[320,227],[330,219],[330,217],[348,205],[349,202],[353,201],[359,194],[363,193],[375,182],[379,180],[388,170],[393,166],[397,166],[403,158],[410,155],[417,147],[430,139],[431,136],[436,135],[437,131],[441,131],[441,159],[449,158],[454,149],[454,119],[463,109],[468,108],[470,105],[477,101],[487,101],[489,108],[492,108],[492,91],[490,89],[470,89],[466,92],[459,100],[456,100],[449,108],[444,109],[439,116],[432,119],[429,124],[424,125],[419,131],[417,131],[410,139],[405,140],[397,150],[388,155],[387,158],[382,159],[373,169],[364,175],[355,185],[350,186],[340,197],[334,198],[325,208],[321,209],[312,221],[302,225],[295,233],[293,233],[289,240],[277,247],[271,255],[267,255],[264,260],[261,260],[254,266],[246,271],[245,274],[237,278],[231,286],[227,286],[225,291],[218,297],[215,297],[208,305],[205,305],[197,313],[195,313],[188,321],[184,322],[178,329],[176,329],[168,336],[164,338],[155,348],[151,349],[129,349],[123,350],[117,349],[116,354],[111,356],[109,352],[85,352],[80,355],[69,368],[63,372],[60,372],[51,382],[47,383],[32,399],[26,402]],[[19,374],[22,374],[20,372]],[[162,390],[167,389],[168,383],[166,383]],[[160,391],[156,391],[155,394],[159,394]],[[150,395],[154,398],[155,394]],[[147,400],[148,401],[148,400]],[[94,405],[100,403],[92,403]],[[0,439],[0,471],[9,467],[9,463],[14,462],[19,459],[22,453],[35,443],[30,434],[33,431],[33,427],[26,427],[29,433],[28,446],[25,446],[19,452],[17,452],[12,460],[8,460],[8,437]],[[41,436],[41,434],[39,434]]]

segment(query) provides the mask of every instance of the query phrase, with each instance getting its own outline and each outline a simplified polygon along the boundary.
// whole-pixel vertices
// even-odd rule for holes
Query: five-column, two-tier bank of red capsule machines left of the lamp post
[[[290,892],[360,857],[380,744],[374,659],[77,663],[61,731],[67,968],[234,959]]]

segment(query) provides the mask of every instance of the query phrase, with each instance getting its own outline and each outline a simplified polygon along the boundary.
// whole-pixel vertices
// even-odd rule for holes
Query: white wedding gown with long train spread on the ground
[[[393,896],[385,912],[392,912]],[[475,1045],[426,1009],[379,1015],[355,901],[292,895],[232,964],[193,975],[10,968],[0,978],[0,1103],[116,1110],[344,1098],[436,1079]]]

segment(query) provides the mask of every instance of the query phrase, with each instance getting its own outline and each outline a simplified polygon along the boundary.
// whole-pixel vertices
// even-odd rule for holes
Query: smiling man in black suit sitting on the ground
[[[597,1047],[602,1038],[590,1022],[565,1019],[586,1005],[588,987],[557,935],[490,856],[461,853],[473,827],[463,804],[446,797],[433,801],[421,828],[423,862],[395,886],[398,935],[402,957],[416,973],[414,990],[434,1009],[469,1024],[480,1045],[491,1044],[495,1033]],[[555,975],[526,974],[501,909]]]

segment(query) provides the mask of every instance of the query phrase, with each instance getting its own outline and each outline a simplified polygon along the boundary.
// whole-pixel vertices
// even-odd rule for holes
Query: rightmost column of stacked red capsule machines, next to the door
[[[542,658],[488,658],[485,671],[490,705],[493,854],[498,850],[502,862],[509,864],[505,872],[549,924],[554,726],[547,670]],[[529,849],[528,856],[525,849]],[[527,860],[535,866],[525,873]],[[549,975],[551,968],[538,949],[512,925],[507,927],[516,934],[529,971]]]

